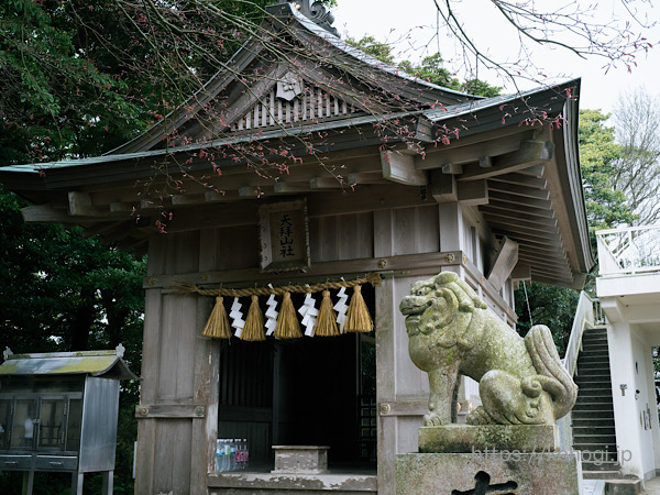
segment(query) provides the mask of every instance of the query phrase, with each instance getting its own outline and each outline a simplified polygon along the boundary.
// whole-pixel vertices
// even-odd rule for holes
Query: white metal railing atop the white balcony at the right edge
[[[660,226],[596,232],[600,275],[660,272]]]

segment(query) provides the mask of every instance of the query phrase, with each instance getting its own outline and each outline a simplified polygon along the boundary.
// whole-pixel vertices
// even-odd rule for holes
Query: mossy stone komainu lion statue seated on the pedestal
[[[480,383],[482,406],[468,416],[471,425],[553,425],[575,404],[578,386],[548,327],[537,324],[522,339],[457,274],[416,283],[400,311],[410,359],[429,375],[425,426],[451,422],[459,374]]]

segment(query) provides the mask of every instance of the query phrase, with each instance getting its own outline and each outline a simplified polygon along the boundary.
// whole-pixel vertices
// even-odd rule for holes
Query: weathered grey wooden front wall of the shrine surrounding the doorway
[[[358,211],[329,215],[320,205],[315,205],[316,215],[310,219],[311,268],[306,274],[285,273],[280,278],[304,283],[319,276],[394,273],[394,278],[386,278],[375,289],[377,403],[389,408],[377,419],[378,487],[380,493],[393,493],[395,455],[416,450],[417,428],[428,400],[426,374],[408,358],[400,299],[415,282],[441,270],[465,276],[508,321],[515,319],[507,305],[510,295],[505,290],[503,299],[477,267],[483,266],[482,243],[488,240],[476,227],[480,217],[475,208],[458,201],[438,205],[430,199],[405,208],[365,211],[363,208],[373,206],[372,198],[364,207],[353,202]],[[227,378],[221,372],[227,363],[218,342],[200,337],[211,298],[172,290],[179,282],[254,284],[277,278],[258,271],[255,222],[254,217],[252,224],[153,237],[145,277],[141,397],[143,406],[151,406],[151,414],[139,424],[136,493],[206,493],[215,440],[221,433],[220,418],[222,425],[231,426],[233,438],[258,438],[262,443],[275,440],[276,432],[270,428],[276,415],[288,428],[289,413],[282,404],[274,403],[271,408],[255,403],[250,413],[218,407],[229,400],[221,398],[220,392],[228,394],[231,387],[219,383]],[[252,382],[258,385],[262,380],[255,376]],[[252,397],[263,394],[250,386],[240,392],[255,394]],[[241,396],[238,400],[246,404],[252,399]],[[202,417],[195,416],[194,406],[204,406]]]

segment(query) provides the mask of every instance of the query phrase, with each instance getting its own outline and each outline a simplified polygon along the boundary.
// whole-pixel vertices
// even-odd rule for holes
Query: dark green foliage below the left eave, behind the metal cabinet
[[[124,359],[139,373],[145,260],[85,238],[80,229],[25,224],[20,208],[26,205],[0,186],[0,349],[53,352],[122,343]],[[138,399],[138,384],[122,382],[116,493],[132,492]],[[20,493],[20,474],[0,476],[3,493],[12,487]],[[61,494],[70,486],[70,475],[43,476],[35,494]],[[100,493],[100,480],[86,476],[86,485],[95,483]]]

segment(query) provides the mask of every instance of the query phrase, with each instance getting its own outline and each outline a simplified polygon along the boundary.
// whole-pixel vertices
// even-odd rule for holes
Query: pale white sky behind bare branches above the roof
[[[547,76],[538,76],[539,80],[550,80],[551,77],[560,80],[581,77],[580,107],[602,109],[605,112],[615,108],[620,92],[630,91],[637,86],[644,86],[650,94],[660,96],[660,7],[650,7],[654,0],[601,0],[594,15],[605,22],[610,22],[617,16],[627,16],[622,10],[624,1],[629,8],[640,9],[639,12],[648,15],[647,24],[657,21],[650,29],[642,29],[632,20],[631,28],[644,32],[653,44],[653,48],[646,55],[637,55],[637,66],[631,72],[628,72],[624,64],[606,72],[605,61],[602,58],[584,61],[565,50],[543,50],[535,45],[531,58],[538,67],[542,67],[543,75]],[[537,0],[536,3],[542,8],[542,4],[557,6],[564,2]],[[504,59],[517,53],[514,31],[506,22],[499,20],[501,15],[490,0],[455,0],[452,6],[455,6],[459,14],[464,15],[465,29],[472,30],[471,36],[482,43],[492,55]],[[475,12],[479,15],[474,15]],[[447,68],[455,70],[455,67],[461,65],[454,41],[444,32],[436,36],[437,14],[433,0],[338,0],[332,13],[333,25],[344,38],[346,34],[354,38],[370,34],[378,41],[394,43],[397,57],[410,61],[419,59],[421,54],[436,53],[439,48],[443,58],[448,61]],[[638,18],[641,19],[640,15]],[[566,40],[566,36],[562,33],[561,37],[558,37]],[[426,51],[425,46],[428,46]],[[480,78],[494,86],[504,86],[504,92],[516,91],[510,82],[505,84],[495,74],[488,73],[484,76],[484,73],[481,73]],[[529,89],[540,85],[541,82],[521,81],[520,88]]]

